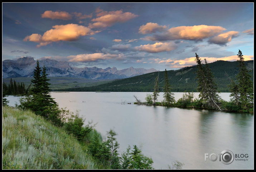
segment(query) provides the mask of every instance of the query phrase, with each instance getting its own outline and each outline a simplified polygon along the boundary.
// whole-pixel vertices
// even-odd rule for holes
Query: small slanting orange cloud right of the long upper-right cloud
[[[218,36],[214,36],[213,38],[209,39],[209,43],[225,45],[226,43],[230,42],[231,39],[238,35],[239,32],[237,31],[229,31],[227,33],[219,34]]]

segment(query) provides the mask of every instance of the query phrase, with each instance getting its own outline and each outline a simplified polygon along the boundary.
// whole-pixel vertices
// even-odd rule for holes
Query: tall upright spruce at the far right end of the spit
[[[239,73],[237,74],[239,101],[241,108],[247,110],[253,107],[253,82],[251,80],[250,70],[247,69],[242,51],[238,51]]]

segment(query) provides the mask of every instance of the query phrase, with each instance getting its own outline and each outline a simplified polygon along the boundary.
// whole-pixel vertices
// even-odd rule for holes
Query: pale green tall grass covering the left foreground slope
[[[3,169],[95,169],[76,138],[30,111],[3,107]]]

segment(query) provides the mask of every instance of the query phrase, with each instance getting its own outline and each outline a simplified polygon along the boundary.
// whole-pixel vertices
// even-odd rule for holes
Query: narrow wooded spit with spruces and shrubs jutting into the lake
[[[165,69],[165,81],[164,81],[164,101],[156,102],[159,96],[159,77],[156,77],[154,83],[153,94],[147,94],[146,102],[141,102],[134,95],[136,102],[135,104],[145,105],[161,105],[161,106],[172,106],[172,107],[185,107],[185,108],[203,108],[203,109],[214,109],[224,111],[235,111],[235,112],[250,112],[253,113],[253,82],[251,80],[250,70],[246,67],[243,59],[242,52],[238,51],[238,67],[239,72],[234,78],[228,78],[230,84],[228,87],[231,92],[230,102],[222,100],[218,95],[218,87],[214,81],[214,75],[208,66],[207,60],[204,59],[204,63],[195,53],[195,61],[197,62],[196,79],[198,83],[197,90],[200,92],[199,99],[194,99],[194,94],[186,92],[183,94],[177,102],[171,92],[172,86],[169,84],[168,74]]]

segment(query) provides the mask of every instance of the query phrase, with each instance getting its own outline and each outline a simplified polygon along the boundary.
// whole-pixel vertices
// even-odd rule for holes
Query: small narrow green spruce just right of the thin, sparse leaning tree
[[[175,103],[175,99],[174,99],[174,93],[171,92],[171,85],[169,83],[169,79],[168,79],[168,75],[167,75],[167,71],[165,69],[165,73],[164,73],[164,102],[166,105],[170,105],[171,103]]]

